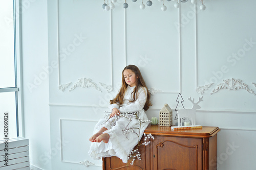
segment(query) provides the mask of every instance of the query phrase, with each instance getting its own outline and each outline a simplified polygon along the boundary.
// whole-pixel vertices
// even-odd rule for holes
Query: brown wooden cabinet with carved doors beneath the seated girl
[[[102,158],[103,169],[214,170],[217,169],[219,131],[218,127],[171,130],[170,127],[149,125],[144,133],[151,133],[155,139],[139,147],[141,160],[136,160],[133,166],[126,166],[117,157]]]

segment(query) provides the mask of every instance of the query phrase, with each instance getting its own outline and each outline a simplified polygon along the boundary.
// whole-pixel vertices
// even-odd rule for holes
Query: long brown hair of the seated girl
[[[129,101],[129,102],[135,102],[138,99],[138,87],[139,86],[145,87],[146,92],[147,92],[147,98],[146,98],[146,103],[145,103],[143,109],[146,111],[150,106],[152,106],[152,103],[150,102],[151,95],[150,95],[150,92],[148,91],[148,89],[146,87],[144,79],[141,76],[139,68],[135,65],[127,65],[126,67],[124,67],[123,71],[125,69],[131,69],[136,75],[136,87],[134,88],[134,91],[132,92],[133,100]],[[125,90],[127,89],[128,85],[125,83],[124,76],[123,76],[123,71],[122,71],[122,87],[120,88],[120,90],[119,90],[118,94],[116,95],[115,99],[110,101],[110,104],[116,103],[116,104],[122,105],[123,102],[124,102],[123,97],[124,97],[124,93],[125,93]]]

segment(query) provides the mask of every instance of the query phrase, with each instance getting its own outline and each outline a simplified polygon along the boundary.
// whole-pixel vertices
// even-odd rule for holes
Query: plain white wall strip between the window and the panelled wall
[[[47,1],[21,3],[25,137],[31,168],[51,169]]]

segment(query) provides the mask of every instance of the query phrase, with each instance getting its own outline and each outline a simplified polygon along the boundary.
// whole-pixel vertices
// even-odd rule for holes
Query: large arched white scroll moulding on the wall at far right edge
[[[217,85],[217,88],[212,90],[210,94],[218,92],[220,89],[229,89],[229,90],[237,90],[237,89],[245,89],[249,93],[255,95],[252,91],[252,89],[248,88],[248,85],[245,83],[242,83],[242,80],[240,79],[226,79],[223,80],[224,83],[220,83]]]

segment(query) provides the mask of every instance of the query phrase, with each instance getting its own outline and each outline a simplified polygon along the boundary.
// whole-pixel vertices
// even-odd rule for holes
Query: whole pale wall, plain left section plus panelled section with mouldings
[[[173,7],[173,2],[165,1],[165,12],[160,10],[158,1],[143,11],[139,1],[129,1],[126,11],[122,3],[117,1],[111,13],[101,8],[103,1],[59,0],[57,4],[57,0],[51,0],[46,4],[38,0],[24,12],[24,86],[44,71],[41,67],[48,65],[48,59],[51,72],[49,86],[46,79],[32,93],[25,87],[31,163],[42,169],[84,169],[79,162],[89,160],[94,165],[88,169],[101,169],[101,161],[87,154],[88,139],[119,87],[121,70],[127,64],[135,64],[148,88],[161,90],[152,96],[154,105],[147,111],[148,117],[158,116],[164,103],[175,109],[179,92],[185,108],[192,107],[189,96],[198,100],[203,95],[197,124],[221,129],[218,169],[255,167],[252,159],[256,156],[256,96],[245,89],[220,89],[210,94],[219,83],[231,78],[242,80],[256,91],[252,84],[256,83],[255,2],[209,0],[205,1],[205,11],[196,12],[190,2],[182,4],[179,10]],[[87,80],[85,84],[90,87],[75,87],[85,85],[78,83],[81,78],[86,78],[83,81]],[[203,94],[196,91],[208,82],[214,84]],[[113,91],[108,92],[100,83],[112,86]],[[35,127],[46,130],[38,135],[31,130]],[[52,166],[38,159],[49,150]]]

